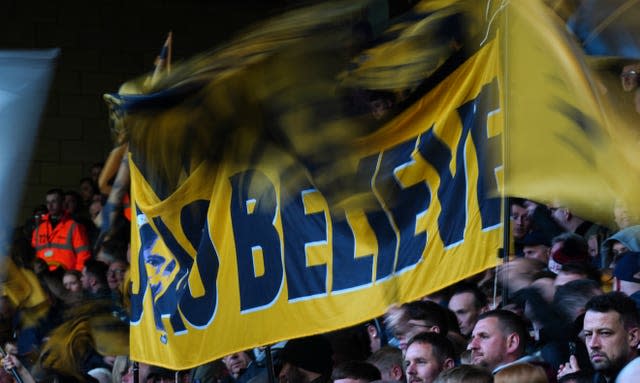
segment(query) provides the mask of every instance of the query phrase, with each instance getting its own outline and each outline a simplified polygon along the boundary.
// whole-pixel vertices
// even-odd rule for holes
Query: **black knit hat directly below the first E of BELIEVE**
[[[322,335],[292,339],[282,350],[283,363],[322,375],[329,375],[333,368],[331,343]]]

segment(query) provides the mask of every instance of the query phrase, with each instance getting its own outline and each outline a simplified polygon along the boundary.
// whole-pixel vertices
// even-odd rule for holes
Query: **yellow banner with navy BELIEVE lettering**
[[[130,161],[132,359],[190,368],[357,324],[494,266],[499,69],[490,42],[364,141],[357,172],[376,209],[336,217],[311,184],[283,195],[271,167],[238,163],[201,165],[161,200]]]

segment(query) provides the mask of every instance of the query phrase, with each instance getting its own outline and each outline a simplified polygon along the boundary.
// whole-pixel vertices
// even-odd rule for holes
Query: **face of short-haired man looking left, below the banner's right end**
[[[488,317],[479,320],[467,349],[471,350],[472,364],[490,370],[500,366],[507,354],[507,338],[498,327],[498,319]]]

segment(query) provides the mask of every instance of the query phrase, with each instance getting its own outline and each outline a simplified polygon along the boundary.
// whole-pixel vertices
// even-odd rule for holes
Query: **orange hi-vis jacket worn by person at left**
[[[55,227],[52,227],[49,215],[45,214],[33,231],[31,245],[36,256],[44,259],[51,270],[62,267],[82,271],[84,262],[91,256],[84,227],[66,214]]]

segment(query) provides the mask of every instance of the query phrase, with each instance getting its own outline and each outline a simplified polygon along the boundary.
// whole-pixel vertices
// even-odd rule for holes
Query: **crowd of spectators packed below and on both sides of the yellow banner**
[[[135,368],[140,382],[268,382],[264,347],[187,371],[134,364],[127,355],[104,355],[92,344],[72,351],[71,364],[43,357],[44,349],[55,352],[55,345],[47,345],[55,337],[52,330],[74,308],[101,302],[91,310],[106,307],[128,324],[129,222],[122,211],[118,224],[100,230],[105,201],[96,178],[83,178],[78,192],[49,190],[45,204],[16,230],[11,258],[34,271],[51,307],[45,318],[27,324],[2,298],[8,355],[0,382],[14,381],[12,374],[31,382],[132,382]],[[508,262],[393,306],[363,325],[272,345],[274,379],[632,381],[636,375],[626,370],[639,368],[640,221],[618,208],[612,230],[560,206],[517,198],[510,206]]]

